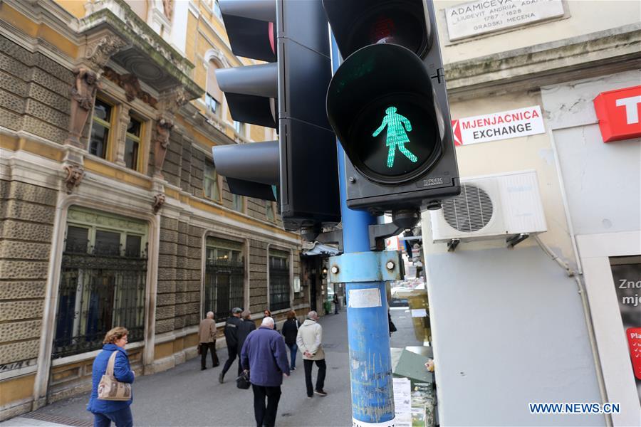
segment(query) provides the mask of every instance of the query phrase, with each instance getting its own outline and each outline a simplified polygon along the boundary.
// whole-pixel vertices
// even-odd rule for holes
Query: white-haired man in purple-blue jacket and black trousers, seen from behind
[[[273,318],[265,317],[261,327],[247,336],[241,350],[241,363],[243,369],[249,370],[249,381],[254,390],[256,427],[273,427],[283,375],[289,376],[287,348],[281,334],[273,330]]]

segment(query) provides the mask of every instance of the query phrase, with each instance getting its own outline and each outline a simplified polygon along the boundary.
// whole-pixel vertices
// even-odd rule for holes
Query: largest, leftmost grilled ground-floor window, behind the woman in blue
[[[75,207],[68,218],[52,357],[100,349],[116,326],[129,330],[129,342],[141,341],[147,224]]]

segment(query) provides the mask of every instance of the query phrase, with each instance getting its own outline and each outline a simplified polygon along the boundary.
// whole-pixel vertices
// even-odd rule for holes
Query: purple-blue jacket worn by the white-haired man
[[[289,375],[285,341],[269,327],[261,326],[247,336],[241,363],[244,369],[249,369],[249,380],[256,386],[280,386],[283,374]]]

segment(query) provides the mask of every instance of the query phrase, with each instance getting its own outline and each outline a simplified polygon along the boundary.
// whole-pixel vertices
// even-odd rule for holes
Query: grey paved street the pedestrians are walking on
[[[278,406],[278,426],[350,425],[351,399],[345,318],[343,310],[338,315],[320,319],[328,363],[325,380],[328,396],[306,398],[303,362],[299,353],[298,369],[283,381],[283,394]],[[392,335],[392,347],[420,345],[414,337],[410,314],[406,309],[392,309],[392,321],[398,328],[398,332]],[[224,361],[226,351],[220,352],[219,356]],[[206,371],[200,371],[199,367],[199,359],[192,359],[169,371],[137,378],[132,404],[135,425],[254,425],[251,389],[236,388],[234,375],[229,374],[225,383],[219,384],[217,377],[221,367]],[[89,426],[93,416],[85,411],[87,400],[88,396],[83,395],[59,401],[35,413],[0,423],[0,426]]]

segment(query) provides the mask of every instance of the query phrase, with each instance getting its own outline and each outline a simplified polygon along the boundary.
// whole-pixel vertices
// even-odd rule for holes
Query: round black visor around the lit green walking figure
[[[330,83],[327,112],[354,167],[380,184],[415,179],[442,154],[432,80],[402,46],[367,46],[347,58]]]

